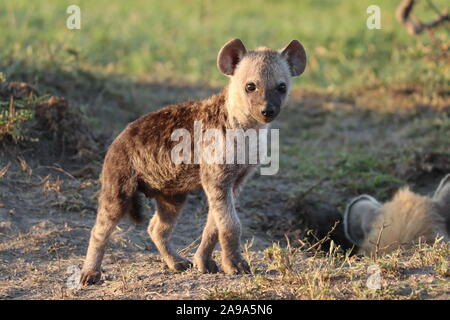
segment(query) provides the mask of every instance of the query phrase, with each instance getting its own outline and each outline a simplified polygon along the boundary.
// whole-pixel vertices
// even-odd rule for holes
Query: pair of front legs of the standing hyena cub
[[[213,220],[217,228],[217,235],[222,247],[222,268],[228,274],[249,273],[250,268],[241,254],[241,223],[234,208],[233,188],[210,179],[202,178],[203,189],[208,198],[208,221]],[[210,222],[209,227],[212,222]],[[208,227],[208,223],[207,223]],[[205,228],[206,229],[206,228]],[[212,252],[214,232],[204,232],[207,238],[202,238],[202,244],[196,253],[197,257],[203,257],[205,262]],[[207,242],[210,242],[208,245]]]

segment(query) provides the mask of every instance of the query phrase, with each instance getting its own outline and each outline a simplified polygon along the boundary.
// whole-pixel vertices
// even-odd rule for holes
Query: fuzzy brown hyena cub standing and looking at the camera
[[[170,246],[172,229],[189,191],[203,188],[209,212],[202,240],[194,255],[201,272],[217,272],[211,255],[217,242],[222,248],[222,268],[226,273],[249,272],[240,252],[241,225],[234,201],[255,165],[175,164],[171,135],[185,129],[194,136],[194,122],[202,130],[266,128],[284,105],[291,77],[306,67],[306,53],[297,40],[283,50],[258,48],[247,51],[239,39],[226,43],[217,58],[219,70],[230,77],[218,94],[202,101],[189,101],[149,113],[130,123],[109,147],[101,174],[101,194],[97,220],[92,229],[81,283],[100,279],[105,246],[120,219],[128,215],[140,221],[138,193],[156,201],[156,212],[148,233],[167,266],[173,271],[189,268],[190,261]],[[206,143],[200,143],[200,154]],[[226,152],[223,154],[225,155]],[[201,155],[200,155],[201,158]]]

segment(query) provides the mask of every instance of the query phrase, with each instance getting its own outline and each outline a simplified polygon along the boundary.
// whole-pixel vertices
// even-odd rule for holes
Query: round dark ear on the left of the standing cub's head
[[[228,41],[217,56],[217,67],[219,70],[228,76],[233,75],[239,61],[242,60],[247,49],[240,39],[233,39]]]

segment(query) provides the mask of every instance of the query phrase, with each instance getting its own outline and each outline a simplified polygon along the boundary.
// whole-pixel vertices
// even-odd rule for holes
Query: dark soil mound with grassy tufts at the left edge
[[[93,160],[104,150],[81,110],[63,97],[40,95],[25,82],[2,82],[0,102],[2,153],[61,161]]]

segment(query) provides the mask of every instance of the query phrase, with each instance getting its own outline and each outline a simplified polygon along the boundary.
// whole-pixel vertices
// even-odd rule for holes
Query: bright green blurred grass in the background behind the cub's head
[[[443,8],[445,0],[435,0]],[[302,86],[330,91],[420,83],[449,84],[445,61],[430,60],[430,37],[408,36],[394,18],[398,1],[2,1],[0,71],[7,78],[52,69],[85,70],[151,81],[222,85],[218,49],[240,37],[249,48],[281,48],[300,39],[309,54]],[[81,30],[65,27],[66,8],[81,7]],[[369,5],[381,7],[382,29],[366,27]],[[433,11],[423,1],[418,15]],[[448,41],[449,31],[435,33]],[[437,50],[431,46],[432,52]],[[36,73],[40,70],[42,73]]]

